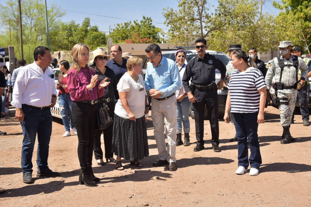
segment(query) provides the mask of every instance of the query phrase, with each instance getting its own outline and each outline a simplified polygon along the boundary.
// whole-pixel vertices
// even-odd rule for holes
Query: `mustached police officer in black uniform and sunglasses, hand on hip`
[[[218,124],[218,95],[217,89],[221,89],[224,84],[226,68],[224,64],[215,56],[205,53],[206,40],[198,38],[195,40],[197,56],[192,58],[186,67],[183,75],[183,86],[188,94],[190,102],[193,103],[195,130],[197,146],[193,151],[204,149],[204,109],[208,111],[208,118],[211,125],[211,144],[215,152],[220,152],[219,145],[219,124]],[[218,69],[221,79],[216,85],[215,70]],[[191,78],[191,85],[189,80]]]

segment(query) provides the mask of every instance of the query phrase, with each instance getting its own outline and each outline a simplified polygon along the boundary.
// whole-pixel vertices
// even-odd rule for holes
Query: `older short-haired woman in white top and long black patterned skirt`
[[[120,99],[114,110],[112,152],[117,155],[116,167],[123,170],[121,158],[131,165],[142,167],[139,159],[149,156],[145,114],[148,106],[146,88],[140,75],[142,59],[131,57],[127,61],[128,71],[118,82]]]

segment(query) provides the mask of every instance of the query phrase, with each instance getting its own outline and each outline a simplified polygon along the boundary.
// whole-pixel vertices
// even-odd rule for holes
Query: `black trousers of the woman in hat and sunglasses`
[[[112,119],[114,119],[114,101],[107,102],[107,106],[109,108],[109,114]],[[112,129],[113,123],[107,128],[103,130],[95,130],[95,140],[94,140],[94,155],[95,159],[103,159],[103,150],[101,150],[101,141],[100,135],[103,132],[104,134],[104,145],[105,145],[105,158],[113,157],[113,152],[111,151],[112,145]]]

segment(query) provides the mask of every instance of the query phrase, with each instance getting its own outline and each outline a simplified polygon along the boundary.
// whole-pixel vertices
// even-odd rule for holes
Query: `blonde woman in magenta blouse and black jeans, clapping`
[[[104,95],[107,78],[98,81],[98,75],[88,65],[90,48],[75,44],[72,48],[72,67],[67,74],[67,87],[72,99],[72,118],[78,135],[78,158],[81,167],[79,184],[96,186],[100,182],[92,170],[92,155],[97,122],[97,98]]]

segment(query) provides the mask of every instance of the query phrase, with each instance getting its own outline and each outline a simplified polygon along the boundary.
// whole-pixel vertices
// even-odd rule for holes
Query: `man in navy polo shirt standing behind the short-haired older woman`
[[[114,74],[117,77],[117,81],[119,82],[120,78],[124,75],[124,73],[128,71],[126,69],[126,63],[128,60],[122,58],[122,49],[117,44],[112,45],[110,49],[110,55],[111,60],[107,62],[106,66],[114,71]]]

